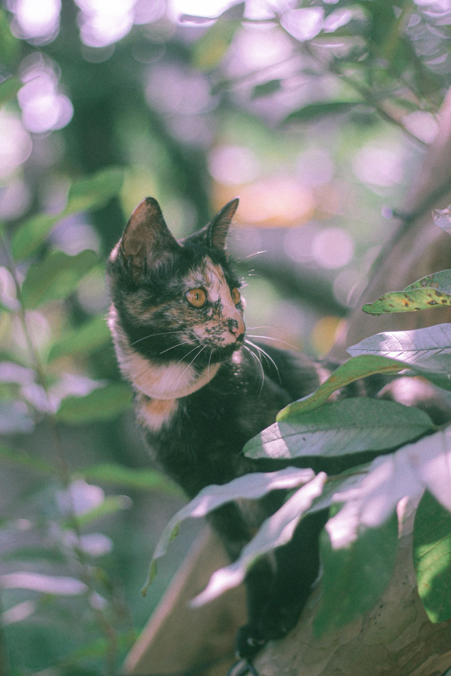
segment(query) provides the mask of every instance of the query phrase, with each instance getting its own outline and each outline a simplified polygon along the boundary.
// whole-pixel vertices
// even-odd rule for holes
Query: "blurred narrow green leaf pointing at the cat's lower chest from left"
[[[103,481],[146,491],[162,491],[171,496],[184,498],[185,494],[175,483],[153,469],[137,469],[120,464],[99,464],[77,470],[86,481]]]

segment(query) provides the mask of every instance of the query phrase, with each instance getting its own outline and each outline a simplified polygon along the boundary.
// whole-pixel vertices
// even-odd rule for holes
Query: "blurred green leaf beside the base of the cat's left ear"
[[[49,300],[68,297],[98,262],[97,254],[91,249],[80,251],[76,256],[51,251],[43,262],[28,270],[22,286],[22,305],[34,309]]]

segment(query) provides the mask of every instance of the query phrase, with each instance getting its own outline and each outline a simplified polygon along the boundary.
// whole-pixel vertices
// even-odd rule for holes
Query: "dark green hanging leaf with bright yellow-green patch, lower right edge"
[[[415,514],[413,562],[431,622],[451,617],[451,514],[426,491]]]

